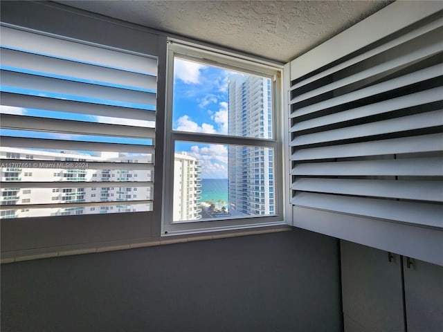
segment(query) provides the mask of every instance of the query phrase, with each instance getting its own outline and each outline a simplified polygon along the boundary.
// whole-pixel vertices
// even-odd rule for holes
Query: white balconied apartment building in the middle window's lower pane
[[[201,219],[200,174],[199,160],[185,151],[174,154],[174,221]]]

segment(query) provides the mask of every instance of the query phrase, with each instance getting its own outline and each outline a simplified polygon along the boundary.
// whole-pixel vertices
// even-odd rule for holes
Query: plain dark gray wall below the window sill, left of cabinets
[[[1,331],[341,331],[338,242],[293,230],[1,266]]]

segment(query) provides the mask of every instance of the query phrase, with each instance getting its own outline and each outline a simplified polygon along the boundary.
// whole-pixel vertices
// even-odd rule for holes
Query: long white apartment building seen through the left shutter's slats
[[[34,149],[18,149],[2,147],[0,153],[3,165],[1,172],[0,205],[15,205],[10,210],[1,210],[1,219],[27,216],[56,216],[70,214],[97,214],[111,212],[136,212],[151,210],[151,204],[127,204],[128,201],[152,200],[151,187],[146,186],[115,186],[118,181],[146,182],[152,181],[152,171],[146,169],[91,169],[88,162],[110,163],[150,163],[150,155],[129,155],[118,152],[101,152],[98,154],[82,154],[79,151],[42,151]],[[17,165],[8,163],[8,159],[23,160]],[[55,168],[57,164],[44,161],[60,161],[78,163],[84,167]],[[66,164],[66,163],[65,163]],[[65,165],[63,164],[63,165]],[[55,165],[55,167],[54,167]],[[60,163],[62,165],[62,163]],[[4,166],[4,167],[3,167]],[[11,167],[12,166],[12,167]],[[35,167],[33,167],[35,166]],[[46,166],[46,167],[45,167]],[[122,167],[124,168],[124,167]],[[55,182],[66,183],[66,187],[24,187],[17,183]],[[100,183],[100,187],[74,187],[69,182],[112,182],[113,186]],[[75,203],[121,202],[114,205],[77,205]],[[71,203],[71,206],[64,206]],[[23,208],[17,209],[17,205]],[[48,208],[45,207],[48,205]],[[74,205],[74,206],[72,206]]]

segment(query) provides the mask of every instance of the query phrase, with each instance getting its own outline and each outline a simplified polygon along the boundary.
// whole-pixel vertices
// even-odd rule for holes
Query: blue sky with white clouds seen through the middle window
[[[176,58],[172,128],[201,133],[228,133],[228,77],[224,68]],[[200,160],[202,178],[228,177],[228,147],[176,142],[175,151],[186,151]]]

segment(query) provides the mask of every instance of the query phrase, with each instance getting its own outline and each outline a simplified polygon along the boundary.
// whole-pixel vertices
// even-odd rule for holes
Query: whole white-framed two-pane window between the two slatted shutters
[[[279,69],[169,45],[164,234],[282,221]]]

